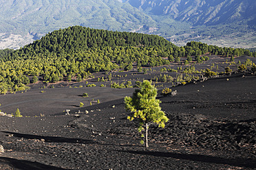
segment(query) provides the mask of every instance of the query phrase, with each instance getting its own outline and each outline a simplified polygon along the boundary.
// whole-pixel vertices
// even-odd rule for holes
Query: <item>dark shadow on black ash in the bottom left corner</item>
[[[21,169],[21,170],[27,170],[27,169],[33,169],[33,170],[44,170],[44,169],[52,169],[52,170],[69,170],[69,169],[63,169],[58,167],[53,167],[50,165],[44,165],[39,162],[31,162],[29,160],[18,160],[14,158],[6,158],[0,156],[0,164],[1,165],[9,165],[13,167],[14,169]]]

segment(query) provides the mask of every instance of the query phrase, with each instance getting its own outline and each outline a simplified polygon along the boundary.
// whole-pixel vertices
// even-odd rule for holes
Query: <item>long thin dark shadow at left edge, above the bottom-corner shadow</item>
[[[6,131],[1,131],[3,133],[7,134],[13,134],[15,137],[19,138],[28,138],[28,139],[39,139],[39,140],[45,140],[47,143],[96,143],[93,140],[86,140],[82,138],[63,138],[63,137],[56,137],[56,136],[39,136],[39,135],[34,135],[34,134],[20,134],[20,133],[15,133],[15,132],[6,132]]]

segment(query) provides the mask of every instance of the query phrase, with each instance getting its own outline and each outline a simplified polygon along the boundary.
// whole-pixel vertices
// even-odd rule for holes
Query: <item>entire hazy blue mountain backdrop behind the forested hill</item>
[[[19,49],[72,25],[256,47],[255,0],[0,0],[0,49]]]

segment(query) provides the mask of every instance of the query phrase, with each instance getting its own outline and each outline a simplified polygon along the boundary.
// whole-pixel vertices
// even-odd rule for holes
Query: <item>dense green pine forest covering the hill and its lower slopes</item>
[[[91,73],[131,70],[133,64],[161,66],[180,58],[206,60],[204,54],[256,56],[246,49],[222,48],[202,42],[177,47],[156,35],[111,32],[74,26],[47,34],[16,51],[0,51],[0,93],[25,90],[39,79],[45,83],[87,79]]]

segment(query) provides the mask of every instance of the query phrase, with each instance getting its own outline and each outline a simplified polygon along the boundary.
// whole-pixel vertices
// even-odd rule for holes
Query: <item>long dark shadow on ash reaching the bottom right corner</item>
[[[140,154],[140,155],[149,155],[149,156],[158,156],[158,157],[167,157],[167,158],[175,158],[180,160],[192,160],[196,162],[209,162],[215,164],[222,164],[222,165],[231,165],[236,167],[246,167],[254,169],[256,167],[256,160],[253,159],[228,159],[228,158],[217,158],[213,156],[204,156],[198,154],[178,154],[178,153],[171,153],[171,152],[160,152],[160,151],[121,151],[115,150],[120,152],[127,152],[130,154]]]

